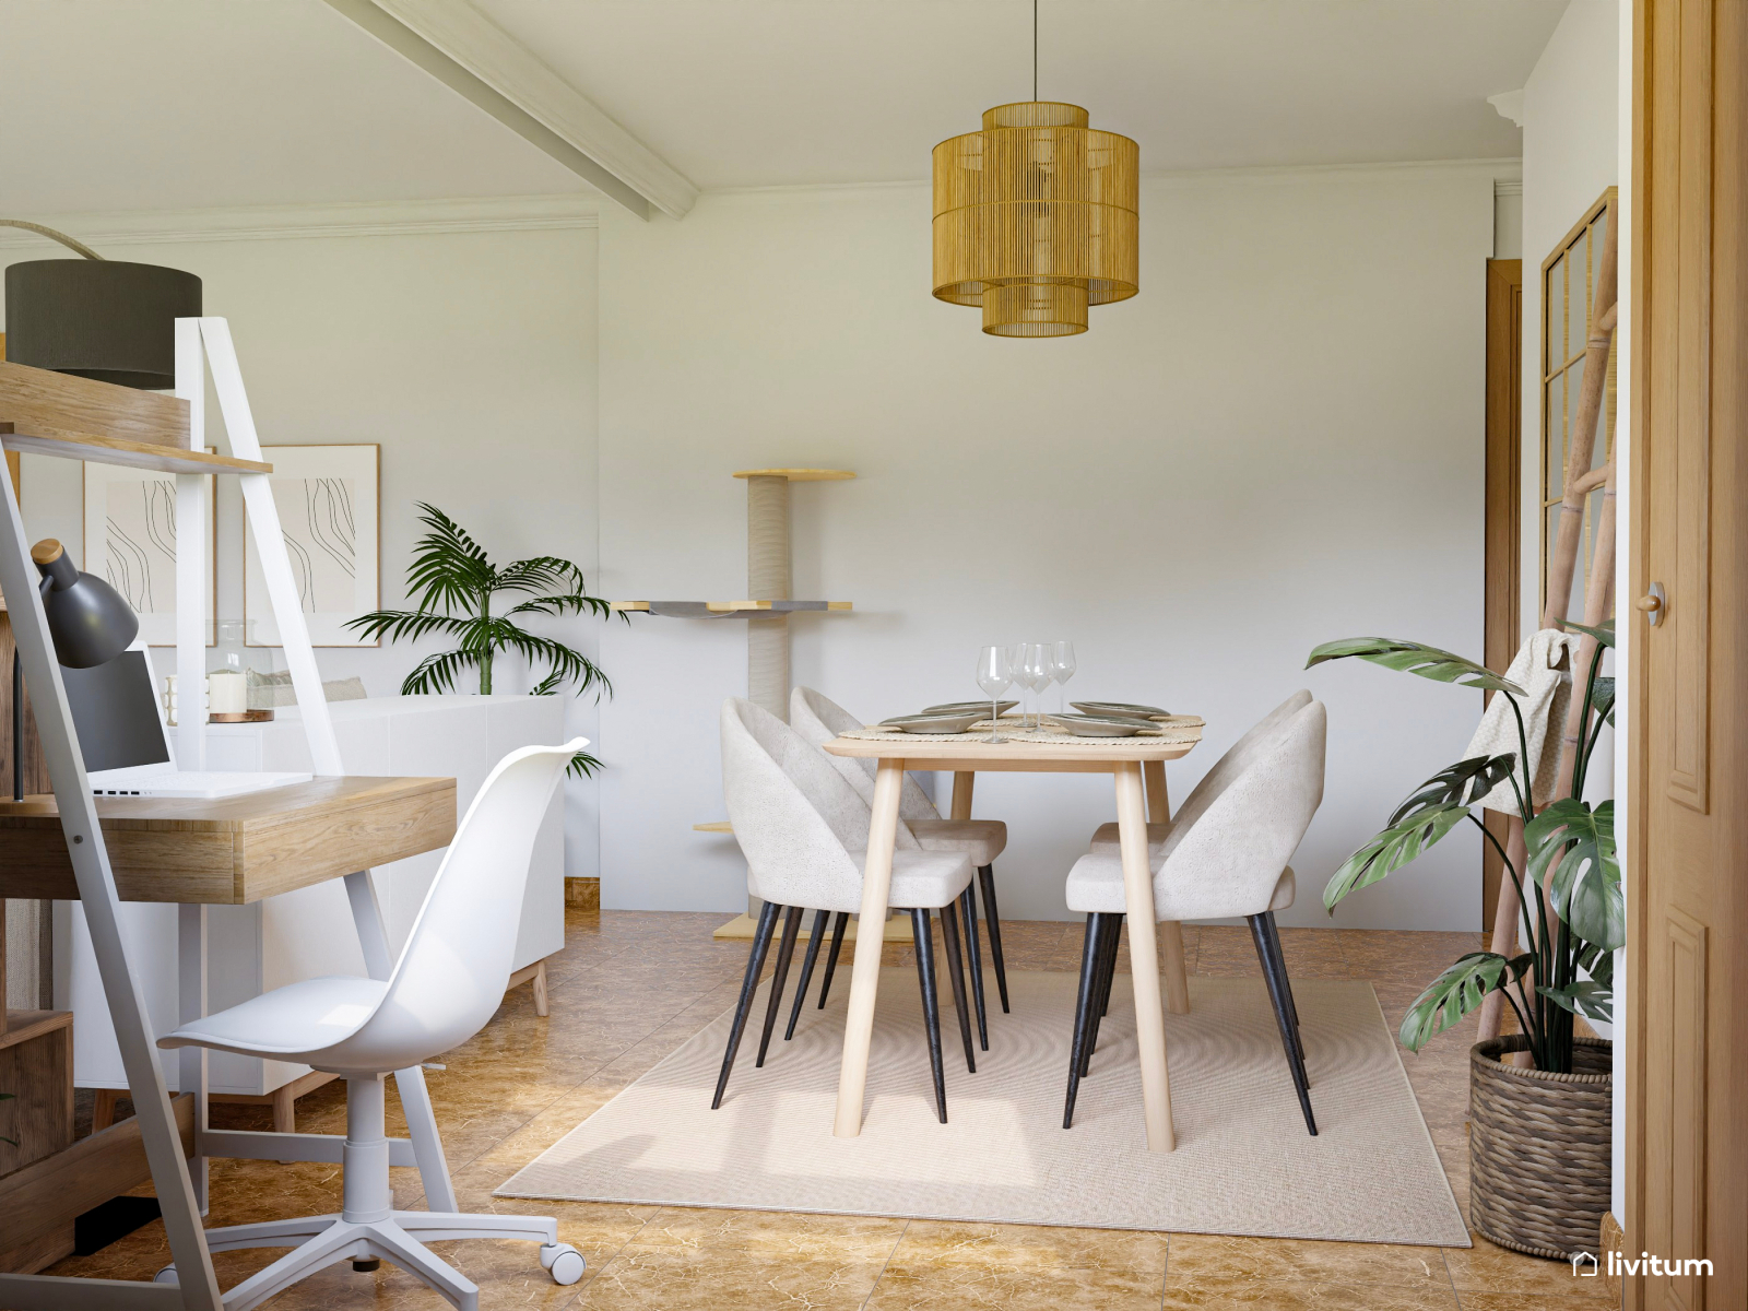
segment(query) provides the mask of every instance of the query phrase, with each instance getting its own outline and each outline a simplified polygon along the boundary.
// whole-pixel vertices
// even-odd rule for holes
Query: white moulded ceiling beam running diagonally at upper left
[[[510,38],[467,0],[327,0],[640,218],[680,218],[697,201],[666,159]]]

